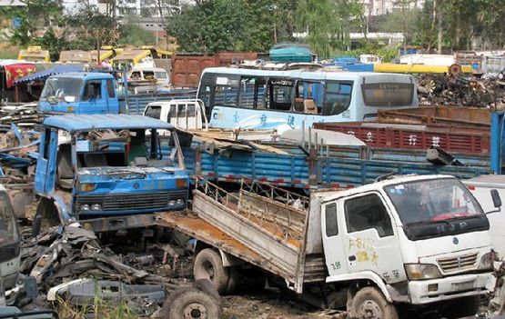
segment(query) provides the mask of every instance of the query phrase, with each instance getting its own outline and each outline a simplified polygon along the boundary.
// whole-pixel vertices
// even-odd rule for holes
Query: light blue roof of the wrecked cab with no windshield
[[[142,115],[56,115],[47,117],[44,126],[64,129],[70,133],[93,130],[173,129],[174,126]]]

